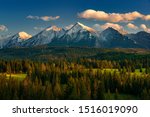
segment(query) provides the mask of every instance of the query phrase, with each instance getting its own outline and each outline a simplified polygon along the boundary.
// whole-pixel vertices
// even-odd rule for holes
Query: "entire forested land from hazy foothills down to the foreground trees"
[[[149,50],[42,47],[0,55],[0,99],[150,99]]]

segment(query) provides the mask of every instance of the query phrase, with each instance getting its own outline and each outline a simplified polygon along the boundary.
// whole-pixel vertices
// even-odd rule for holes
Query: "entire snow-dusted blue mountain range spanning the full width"
[[[121,34],[109,27],[98,32],[77,22],[65,30],[51,26],[35,36],[19,32],[0,40],[0,48],[49,46],[73,46],[96,48],[146,48],[150,49],[150,33],[141,31],[136,34]]]

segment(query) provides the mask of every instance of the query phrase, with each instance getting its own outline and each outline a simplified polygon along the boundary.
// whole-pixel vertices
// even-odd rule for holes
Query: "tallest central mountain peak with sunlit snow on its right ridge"
[[[54,40],[52,45],[96,46],[98,39],[94,29],[77,22],[61,38]]]

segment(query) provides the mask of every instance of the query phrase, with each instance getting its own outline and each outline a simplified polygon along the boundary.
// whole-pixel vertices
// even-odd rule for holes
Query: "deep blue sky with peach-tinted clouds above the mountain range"
[[[0,34],[36,34],[51,25],[66,27],[75,22],[97,30],[112,26],[126,32],[149,32],[149,15],[150,0],[1,0]],[[115,20],[116,16],[122,19]]]

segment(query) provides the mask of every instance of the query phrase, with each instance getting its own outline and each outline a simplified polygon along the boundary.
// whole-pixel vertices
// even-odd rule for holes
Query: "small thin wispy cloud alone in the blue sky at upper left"
[[[27,19],[33,19],[33,20],[43,20],[43,21],[52,21],[52,20],[57,20],[59,19],[60,16],[32,16],[32,15],[29,15],[27,16]]]

